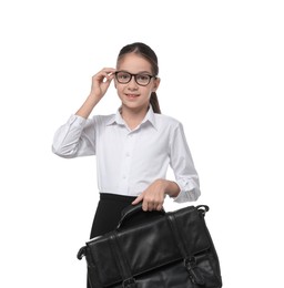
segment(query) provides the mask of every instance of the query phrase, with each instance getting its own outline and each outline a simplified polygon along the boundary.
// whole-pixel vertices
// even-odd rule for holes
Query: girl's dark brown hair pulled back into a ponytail
[[[118,62],[122,56],[124,56],[128,53],[136,53],[144,59],[146,59],[151,65],[152,65],[152,73],[156,76],[159,74],[159,66],[158,66],[158,58],[155,52],[146,44],[141,43],[141,42],[134,42],[132,44],[128,44],[123,47],[120,50],[119,56],[118,56]],[[153,107],[154,113],[161,114],[161,109],[159,104],[159,100],[156,96],[155,92],[152,92],[151,97],[150,97],[150,104]]]

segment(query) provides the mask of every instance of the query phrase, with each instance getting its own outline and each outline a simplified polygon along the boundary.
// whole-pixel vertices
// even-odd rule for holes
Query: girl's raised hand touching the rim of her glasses
[[[100,101],[108,91],[110,83],[114,78],[115,71],[116,70],[113,68],[104,68],[93,75],[90,95]]]

